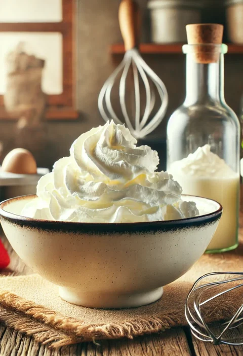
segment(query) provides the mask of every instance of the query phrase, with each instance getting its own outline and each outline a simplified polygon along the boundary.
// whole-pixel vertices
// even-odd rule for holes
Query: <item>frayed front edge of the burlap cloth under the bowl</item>
[[[4,290],[0,290],[0,305],[3,308],[0,312],[1,321],[33,336],[39,342],[50,343],[51,347],[100,339],[132,339],[135,336],[165,331],[178,325],[182,319],[177,311],[173,316],[163,316],[163,321],[151,316],[121,324],[82,325],[78,319],[65,317]]]

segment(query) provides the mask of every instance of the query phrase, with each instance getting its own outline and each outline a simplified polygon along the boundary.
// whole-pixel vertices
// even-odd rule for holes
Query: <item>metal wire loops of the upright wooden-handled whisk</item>
[[[132,119],[128,114],[126,105],[126,81],[129,75],[129,69],[132,67],[133,79],[134,79],[134,93],[135,93],[135,127],[132,125]],[[119,100],[121,112],[124,116],[124,121],[129,130],[137,138],[144,137],[152,132],[159,123],[163,120],[167,106],[168,106],[168,93],[165,84],[159,79],[159,77],[153,72],[153,70],[145,63],[136,48],[133,48],[126,52],[123,61],[116,68],[114,73],[106,80],[103,88],[101,89],[98,98],[98,107],[101,116],[105,121],[112,119],[114,122],[123,124],[124,121],[120,120],[111,103],[111,91],[117,77],[120,76],[119,83]],[[140,97],[140,84],[139,76],[145,88],[146,103],[145,109],[141,115],[141,97]],[[150,119],[150,114],[154,109],[155,104],[155,91],[151,87],[149,81],[151,81],[157,90],[161,105],[153,118]]]

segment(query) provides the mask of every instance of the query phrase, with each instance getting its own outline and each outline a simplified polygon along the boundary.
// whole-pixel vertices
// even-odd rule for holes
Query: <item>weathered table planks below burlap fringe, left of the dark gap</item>
[[[148,335],[135,340],[100,341],[50,349],[32,338],[0,325],[1,356],[190,356],[182,329],[169,330],[160,335]]]

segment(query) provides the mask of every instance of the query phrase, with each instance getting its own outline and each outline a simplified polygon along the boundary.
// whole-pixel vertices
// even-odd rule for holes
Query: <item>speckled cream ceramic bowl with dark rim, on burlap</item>
[[[222,206],[193,200],[195,218],[120,224],[71,223],[21,216],[36,196],[0,204],[4,232],[19,257],[59,286],[67,302],[96,308],[137,307],[159,299],[163,286],[183,275],[205,252]]]

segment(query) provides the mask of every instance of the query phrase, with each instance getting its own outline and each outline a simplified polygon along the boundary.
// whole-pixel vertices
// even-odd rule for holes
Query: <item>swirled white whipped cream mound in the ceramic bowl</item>
[[[37,198],[22,215],[88,223],[174,220],[198,215],[194,202],[167,172],[155,172],[156,151],[136,147],[124,125],[113,121],[80,135],[37,184]]]

